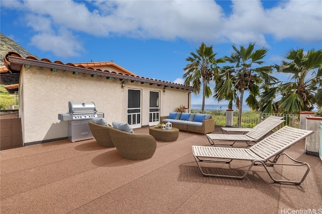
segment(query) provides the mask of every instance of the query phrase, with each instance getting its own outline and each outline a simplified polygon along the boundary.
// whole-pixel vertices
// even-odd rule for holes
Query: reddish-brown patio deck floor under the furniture
[[[148,133],[148,128],[134,131]],[[220,128],[214,133],[221,133]],[[192,145],[210,144],[203,134],[180,131],[177,141],[158,141],[153,157],[139,161],[124,159],[95,139],[3,150],[0,212],[322,213],[322,161],[304,154],[304,141],[287,150],[311,166],[300,185],[274,183],[261,166],[253,166],[243,180],[202,176]],[[249,162],[205,164],[240,173]],[[293,167],[270,169],[290,178],[302,172]]]

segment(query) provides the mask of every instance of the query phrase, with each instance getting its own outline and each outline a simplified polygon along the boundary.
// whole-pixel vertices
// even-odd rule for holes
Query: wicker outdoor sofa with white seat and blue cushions
[[[215,129],[211,114],[170,112],[168,116],[161,116],[160,122],[171,122],[172,127],[179,130],[201,134],[213,132]]]

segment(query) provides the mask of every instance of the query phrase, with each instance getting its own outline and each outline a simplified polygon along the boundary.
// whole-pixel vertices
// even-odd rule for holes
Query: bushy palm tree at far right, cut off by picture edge
[[[298,113],[322,106],[322,50],[304,53],[289,50],[277,72],[290,75],[289,82],[279,81],[261,96],[262,112]],[[266,104],[264,104],[266,103]]]

